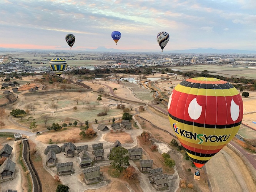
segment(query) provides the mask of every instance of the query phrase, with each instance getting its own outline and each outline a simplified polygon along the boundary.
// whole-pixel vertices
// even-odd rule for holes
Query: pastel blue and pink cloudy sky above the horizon
[[[117,45],[112,31],[122,36]],[[255,0],[0,0],[0,47],[72,50],[256,50]]]

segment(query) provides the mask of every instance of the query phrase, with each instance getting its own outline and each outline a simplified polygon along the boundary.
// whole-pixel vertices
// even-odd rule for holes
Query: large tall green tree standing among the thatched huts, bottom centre
[[[119,146],[114,147],[109,155],[109,160],[112,162],[110,165],[116,169],[122,172],[122,170],[126,169],[126,167],[130,166],[129,164],[129,156],[128,156],[128,150]]]

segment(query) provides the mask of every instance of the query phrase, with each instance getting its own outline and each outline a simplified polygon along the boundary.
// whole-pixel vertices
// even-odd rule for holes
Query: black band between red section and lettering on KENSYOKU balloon
[[[203,124],[203,123],[198,123],[198,122],[193,122],[193,121],[185,121],[184,119],[176,118],[175,116],[171,115],[169,112],[168,112],[168,115],[170,118],[174,119],[175,121],[178,121],[178,122],[181,122],[181,123],[184,123],[187,125],[193,125],[196,127],[205,127],[205,128],[210,128],[210,129],[215,129],[215,128],[216,129],[228,129],[228,128],[239,126],[242,123],[242,121],[240,121],[240,122],[236,122],[234,124],[229,124],[229,125],[210,125],[210,124]]]

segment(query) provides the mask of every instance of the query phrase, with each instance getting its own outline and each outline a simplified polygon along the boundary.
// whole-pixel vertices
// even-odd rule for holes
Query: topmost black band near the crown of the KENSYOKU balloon
[[[229,83],[224,84],[205,84],[205,83],[193,83],[189,81],[182,81],[180,85],[197,89],[231,89],[233,86]]]

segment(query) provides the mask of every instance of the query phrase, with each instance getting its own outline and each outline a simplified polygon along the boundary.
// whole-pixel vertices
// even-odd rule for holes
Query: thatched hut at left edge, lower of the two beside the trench
[[[2,166],[0,167],[0,179],[10,179],[15,175],[15,162],[10,160],[8,157],[5,162],[3,162]]]

